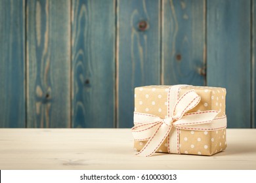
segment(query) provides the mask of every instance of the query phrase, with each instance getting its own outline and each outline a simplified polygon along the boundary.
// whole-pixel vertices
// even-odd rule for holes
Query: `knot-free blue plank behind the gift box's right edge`
[[[228,127],[251,127],[250,1],[207,1],[207,85],[226,88]]]

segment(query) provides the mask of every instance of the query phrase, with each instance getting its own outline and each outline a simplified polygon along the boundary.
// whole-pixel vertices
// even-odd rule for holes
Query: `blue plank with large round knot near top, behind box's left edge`
[[[160,84],[160,1],[117,1],[117,68],[117,127],[132,127],[134,88]]]

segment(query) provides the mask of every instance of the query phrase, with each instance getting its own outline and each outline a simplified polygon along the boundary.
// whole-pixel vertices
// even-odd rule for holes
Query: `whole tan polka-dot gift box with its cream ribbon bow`
[[[155,152],[211,156],[226,148],[224,88],[135,88],[132,128],[139,156]]]

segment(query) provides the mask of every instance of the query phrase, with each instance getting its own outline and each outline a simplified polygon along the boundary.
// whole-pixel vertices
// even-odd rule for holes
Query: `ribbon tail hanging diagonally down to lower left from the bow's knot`
[[[158,129],[156,129],[156,132],[152,137],[148,140],[144,148],[140,150],[140,152],[137,154],[139,156],[152,156],[156,150],[160,147],[160,145],[163,143],[167,135],[169,135],[169,132],[171,131],[171,126],[166,124],[161,124]]]

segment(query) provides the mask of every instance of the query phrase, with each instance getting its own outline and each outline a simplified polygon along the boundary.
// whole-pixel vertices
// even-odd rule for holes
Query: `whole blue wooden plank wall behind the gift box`
[[[132,127],[134,88],[226,88],[256,126],[256,0],[0,0],[0,127]]]

